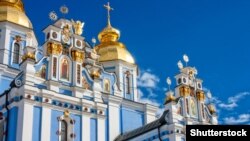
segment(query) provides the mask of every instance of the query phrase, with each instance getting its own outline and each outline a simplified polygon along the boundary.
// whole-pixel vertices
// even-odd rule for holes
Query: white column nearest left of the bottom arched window
[[[42,107],[42,128],[41,128],[41,141],[50,140],[50,127],[51,127],[51,109]]]

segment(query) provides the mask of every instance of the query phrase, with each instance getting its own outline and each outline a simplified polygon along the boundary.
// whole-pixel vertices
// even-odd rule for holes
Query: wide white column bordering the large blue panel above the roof
[[[120,109],[118,104],[109,103],[109,140],[120,134]]]

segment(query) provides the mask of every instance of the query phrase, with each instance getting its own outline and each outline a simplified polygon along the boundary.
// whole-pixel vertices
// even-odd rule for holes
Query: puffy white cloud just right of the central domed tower
[[[144,88],[156,88],[159,82],[159,77],[152,74],[149,70],[143,72],[137,80],[138,86]]]

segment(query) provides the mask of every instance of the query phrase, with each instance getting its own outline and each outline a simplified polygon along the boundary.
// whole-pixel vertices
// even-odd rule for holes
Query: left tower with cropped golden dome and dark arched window
[[[26,46],[37,46],[22,0],[0,0],[0,64],[19,69]]]

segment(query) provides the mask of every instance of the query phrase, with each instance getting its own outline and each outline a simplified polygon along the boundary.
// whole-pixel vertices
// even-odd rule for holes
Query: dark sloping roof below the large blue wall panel
[[[146,124],[146,125],[144,125],[144,126],[142,126],[140,128],[134,129],[134,130],[132,130],[130,132],[126,132],[124,134],[121,134],[115,139],[115,141],[127,141],[129,139],[135,138],[135,137],[140,136],[140,135],[142,135],[144,133],[147,133],[147,132],[149,132],[151,130],[154,130],[156,128],[161,127],[162,125],[167,123],[166,120],[165,120],[165,116],[168,113],[169,113],[168,110],[164,111],[164,113],[162,114],[162,116],[159,119],[157,119],[157,120],[155,120],[155,121],[153,121],[153,122],[151,122],[149,124]]]

